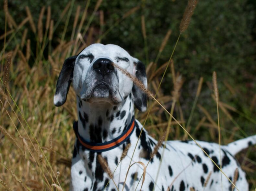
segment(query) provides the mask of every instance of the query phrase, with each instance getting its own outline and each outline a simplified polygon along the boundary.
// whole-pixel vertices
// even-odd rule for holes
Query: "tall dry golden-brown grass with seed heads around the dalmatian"
[[[51,7],[47,7],[47,10],[42,7],[40,18],[34,18],[29,7],[26,7],[27,17],[24,18],[21,23],[15,23],[15,20],[8,12],[7,1],[5,1],[6,32],[0,37],[1,43],[4,43],[4,48],[0,53],[0,62],[2,64],[0,67],[0,189],[68,190],[70,183],[70,161],[75,140],[75,134],[71,130],[71,126],[74,119],[77,119],[76,108],[74,107],[76,96],[73,89],[70,88],[67,101],[63,107],[57,108],[53,105],[56,80],[64,59],[69,53],[73,53],[74,55],[79,53],[81,49],[85,48],[90,43],[100,42],[112,28],[118,27],[118,24],[123,19],[134,14],[141,8],[140,6],[135,6],[124,13],[122,18],[114,23],[113,27],[107,31],[101,31],[98,39],[93,39],[92,35],[90,35],[94,32],[93,27],[90,26],[91,22],[93,22],[93,18],[99,16],[100,25],[104,24],[102,10],[100,10],[99,15],[96,14],[100,9],[101,2],[102,1],[99,0],[93,8],[93,14],[90,15],[88,23],[85,23],[85,19],[87,18],[87,10],[90,1],[87,1],[85,7],[77,6],[76,9],[73,9],[73,11],[77,13],[74,21],[69,21],[67,18],[72,11],[71,7],[74,6],[71,2],[68,3],[60,15],[60,20],[54,24],[51,18],[51,11],[53,11]],[[181,32],[185,31],[188,27],[194,9],[193,3],[197,1],[189,2],[188,6],[192,7],[188,7],[185,11],[187,15],[184,14],[183,24],[181,23],[180,26]],[[47,14],[45,14],[45,12],[47,12]],[[42,19],[44,16],[46,17],[45,23],[43,23],[44,19]],[[145,39],[146,46],[146,18],[142,16],[141,19],[142,35]],[[28,24],[25,26],[27,22]],[[72,35],[65,37],[66,34],[64,30],[59,45],[53,47],[51,42],[55,37],[54,31],[60,22],[65,23],[65,25],[71,22],[73,23]],[[36,51],[34,50],[35,47],[32,47],[32,38],[28,39],[27,37],[28,33],[31,33],[31,31],[35,35],[35,39],[37,39],[38,45]],[[168,43],[171,32],[171,30],[166,31],[166,36],[162,40],[162,44],[158,45],[158,58]],[[15,41],[11,37],[14,33],[18,41]],[[88,36],[86,40],[83,39],[85,34]],[[64,39],[70,39],[70,41],[65,41]],[[11,52],[6,52],[6,44],[9,42],[16,42],[16,48]],[[161,145],[165,138],[182,139],[183,135],[178,130],[180,129],[179,124],[188,124],[186,130],[189,133],[192,132],[192,135],[197,136],[196,131],[205,131],[205,134],[208,135],[207,137],[211,137],[209,141],[218,142],[219,139],[216,135],[218,135],[218,127],[220,127],[220,125],[215,122],[217,114],[210,114],[204,106],[201,105],[198,105],[199,108],[195,107],[200,100],[201,90],[203,88],[208,89],[208,87],[203,86],[203,78],[201,78],[198,83],[194,106],[189,120],[187,120],[180,115],[182,113],[182,107],[180,106],[182,105],[182,102],[180,102],[182,93],[180,90],[182,90],[183,83],[188,82],[183,81],[180,74],[175,72],[173,60],[170,59],[158,67],[158,58],[154,63],[148,64],[146,68],[149,79],[149,90],[146,89],[140,81],[136,81],[136,79],[134,79],[134,83],[139,85],[148,96],[157,97],[159,104],[155,102],[154,99],[149,100],[148,110],[145,113],[136,112],[136,118],[144,122],[144,127],[149,131],[151,136],[156,139],[161,137],[158,145]],[[174,91],[172,93],[164,93],[161,88],[161,83],[165,83],[163,74],[169,72],[167,70],[169,65],[170,75],[173,79],[173,84],[170,85],[170,89]],[[119,69],[122,70],[122,68]],[[125,73],[125,71],[123,72]],[[163,76],[162,79],[161,76]],[[219,83],[221,82],[219,81]],[[235,87],[230,87],[229,85],[228,89],[231,89],[233,93],[235,92]],[[157,92],[157,95],[153,96],[151,92]],[[209,97],[209,99],[211,99],[211,97]],[[245,120],[250,120],[250,118],[246,117],[246,114],[240,112],[237,108],[220,102],[217,96],[215,96],[215,100],[217,100],[221,111],[223,111],[219,114],[220,121],[224,123],[225,121],[232,120],[233,124],[235,124],[234,127],[231,126],[229,128],[221,126],[220,135],[222,135],[222,132],[225,132],[225,136],[221,137],[222,142],[227,143],[238,139],[236,134],[245,136],[245,132],[240,132],[240,126],[238,126],[238,123],[235,121],[236,118],[232,116],[232,114],[238,113],[239,115],[245,115]],[[254,103],[255,98],[253,100],[252,102]],[[164,108],[160,106],[160,104]],[[173,108],[171,109],[171,107]],[[252,106],[249,105],[249,107]],[[171,111],[169,112],[171,114],[176,114],[177,121],[172,121],[172,118],[166,113],[165,109]],[[197,123],[192,123],[194,113],[201,115],[202,120]],[[149,120],[146,121],[147,119]],[[251,121],[253,123],[253,120]],[[197,125],[192,126],[191,124]],[[166,131],[167,127],[169,129],[168,133]],[[128,149],[129,146],[127,145],[126,150]],[[158,147],[156,146],[154,152],[156,152],[157,149]],[[253,149],[254,148],[250,151],[251,153],[255,151],[255,149]],[[123,153],[121,158],[126,156],[126,152]],[[248,155],[251,156],[250,152],[246,153],[247,157],[240,155],[239,160],[245,157],[248,158]],[[152,153],[152,157],[153,156],[154,153]],[[104,166],[104,163],[102,164]],[[140,163],[140,165],[146,170],[147,165],[142,163]],[[255,187],[256,175],[255,170],[253,170],[255,169],[255,163],[247,160],[242,167],[248,174],[250,184]],[[111,172],[109,176],[112,177],[114,173],[115,171],[113,171],[113,173]],[[211,174],[208,176],[210,177]],[[237,176],[236,173],[234,176]],[[142,175],[141,178],[143,178],[144,181],[145,175]],[[205,187],[206,186],[207,181],[205,182]]]

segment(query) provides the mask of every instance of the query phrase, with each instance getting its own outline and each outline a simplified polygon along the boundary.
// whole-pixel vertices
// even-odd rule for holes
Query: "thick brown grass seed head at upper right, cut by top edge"
[[[186,6],[185,12],[180,22],[180,32],[183,33],[187,30],[191,17],[194,13],[194,9],[198,3],[198,0],[188,0],[188,5]]]

